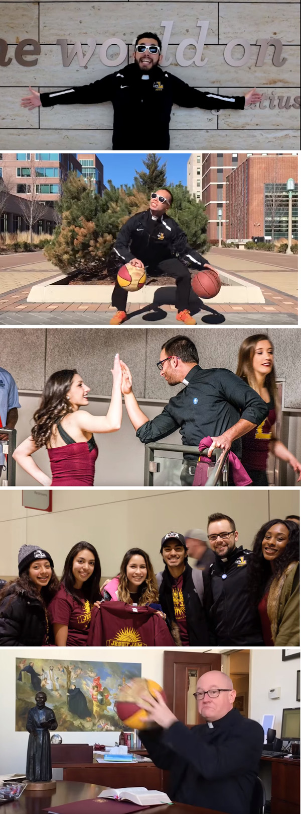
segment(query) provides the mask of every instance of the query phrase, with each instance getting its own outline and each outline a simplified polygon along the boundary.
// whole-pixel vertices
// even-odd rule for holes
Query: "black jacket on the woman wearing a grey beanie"
[[[41,647],[46,628],[45,609],[37,596],[12,583],[0,603],[0,647]]]

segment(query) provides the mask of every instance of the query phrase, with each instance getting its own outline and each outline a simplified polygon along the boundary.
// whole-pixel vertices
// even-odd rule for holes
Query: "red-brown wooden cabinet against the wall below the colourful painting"
[[[146,789],[166,791],[169,772],[163,772],[153,763],[133,764],[52,764],[52,768],[62,768],[62,780],[79,781],[83,783],[97,783],[100,786],[114,788],[116,786],[116,772],[118,772],[118,786],[145,786]],[[1,812],[0,812],[1,814]]]

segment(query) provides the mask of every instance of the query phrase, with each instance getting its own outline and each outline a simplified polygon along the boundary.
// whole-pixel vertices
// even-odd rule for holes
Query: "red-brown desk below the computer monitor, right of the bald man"
[[[299,814],[300,761],[264,755],[261,760],[272,769],[271,814]]]

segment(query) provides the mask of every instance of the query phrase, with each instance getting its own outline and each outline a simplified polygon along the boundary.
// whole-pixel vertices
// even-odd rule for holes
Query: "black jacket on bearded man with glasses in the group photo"
[[[263,645],[258,610],[249,593],[252,551],[240,545],[222,562],[220,557],[203,572],[204,606],[209,619],[211,643],[216,645]]]

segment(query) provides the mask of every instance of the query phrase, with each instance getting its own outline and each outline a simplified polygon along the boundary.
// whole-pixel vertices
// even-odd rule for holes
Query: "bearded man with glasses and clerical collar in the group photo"
[[[209,515],[208,539],[215,562],[203,574],[204,607],[212,643],[239,647],[263,645],[260,616],[249,591],[252,551],[236,546],[239,532],[228,514]]]

